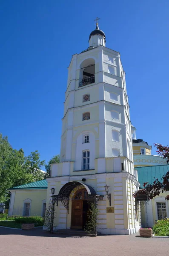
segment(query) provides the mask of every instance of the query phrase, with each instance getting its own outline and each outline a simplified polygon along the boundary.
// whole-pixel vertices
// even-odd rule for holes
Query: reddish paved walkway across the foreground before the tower
[[[168,238],[131,236],[65,237],[0,227],[2,256],[168,256]]]

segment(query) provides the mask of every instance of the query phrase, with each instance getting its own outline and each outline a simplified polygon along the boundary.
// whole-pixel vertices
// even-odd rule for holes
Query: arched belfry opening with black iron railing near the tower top
[[[95,60],[86,59],[80,64],[79,87],[95,83]]]

